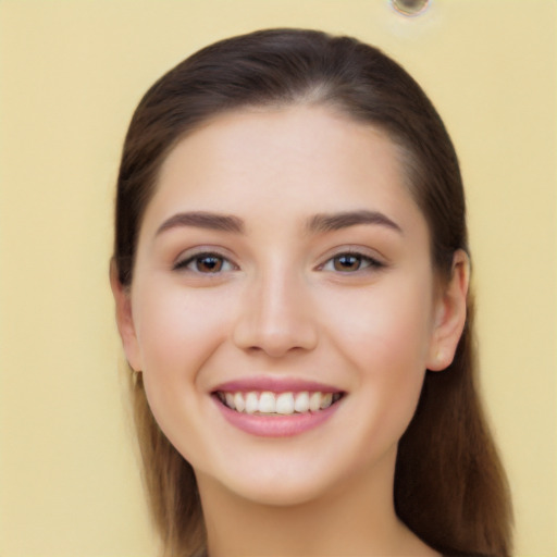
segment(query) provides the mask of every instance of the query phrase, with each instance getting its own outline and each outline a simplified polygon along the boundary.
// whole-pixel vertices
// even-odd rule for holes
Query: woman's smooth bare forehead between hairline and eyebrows
[[[420,219],[405,181],[399,149],[369,124],[321,106],[245,109],[207,122],[176,145],[146,221],[180,210],[247,220],[281,213],[292,221],[362,208]]]

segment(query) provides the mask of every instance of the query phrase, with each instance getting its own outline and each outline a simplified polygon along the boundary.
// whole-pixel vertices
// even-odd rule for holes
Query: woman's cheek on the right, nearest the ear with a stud
[[[350,362],[354,393],[360,399],[362,435],[382,440],[379,446],[398,442],[420,397],[431,336],[431,298],[416,284],[404,288],[373,288],[351,304],[352,312],[338,311],[331,338]]]

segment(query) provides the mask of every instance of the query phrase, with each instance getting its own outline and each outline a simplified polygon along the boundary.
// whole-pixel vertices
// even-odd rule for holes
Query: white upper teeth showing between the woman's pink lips
[[[341,398],[341,393],[272,393],[271,391],[218,392],[219,398],[233,410],[246,413],[292,414],[329,408]]]

